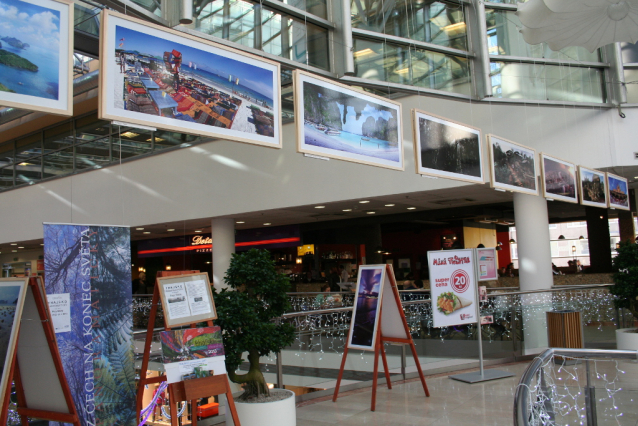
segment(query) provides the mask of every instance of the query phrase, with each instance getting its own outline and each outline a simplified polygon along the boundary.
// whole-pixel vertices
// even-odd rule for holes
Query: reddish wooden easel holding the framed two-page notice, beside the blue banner
[[[203,279],[206,283],[208,290],[208,297],[211,304],[211,312],[199,315],[189,315],[183,319],[175,319],[171,317],[171,308],[168,306],[170,303],[165,294],[163,285],[166,285],[168,281],[174,278],[182,278],[184,280]],[[170,284],[169,284],[170,285]],[[148,318],[148,328],[146,330],[146,340],[144,342],[144,353],[142,355],[142,366],[140,370],[140,380],[137,388],[137,402],[136,410],[137,417],[139,419],[142,411],[142,400],[144,396],[144,389],[146,385],[165,382],[167,380],[166,375],[160,375],[157,377],[147,377],[148,363],[151,354],[151,341],[153,339],[153,332],[155,327],[155,318],[157,317],[157,309],[159,304],[162,304],[164,312],[164,329],[166,331],[171,330],[173,327],[179,327],[189,325],[191,328],[196,328],[198,322],[206,322],[208,327],[213,326],[213,320],[217,318],[217,313],[214,309],[212,293],[210,292],[210,284],[208,282],[208,274],[200,274],[199,271],[160,271],[157,273],[157,279],[153,288],[153,299],[151,301],[151,311]],[[168,385],[168,397],[171,415],[171,426],[178,425],[177,416],[177,402],[189,401],[191,403],[193,426],[197,425],[197,414],[195,413],[195,407],[197,401],[200,398],[206,398],[214,395],[225,394],[228,398],[228,406],[230,408],[231,416],[236,425],[240,426],[239,418],[237,417],[237,411],[235,410],[235,402],[228,383],[228,377],[226,374],[219,374],[210,377],[204,377],[199,379],[190,379],[181,382],[171,383]]]

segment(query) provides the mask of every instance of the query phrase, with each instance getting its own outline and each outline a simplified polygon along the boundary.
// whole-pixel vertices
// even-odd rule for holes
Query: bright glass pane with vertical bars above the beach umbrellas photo
[[[261,9],[261,19],[255,11]],[[198,31],[247,47],[328,69],[328,30],[242,0],[215,0],[195,8]],[[261,29],[260,29],[261,28]],[[260,31],[260,37],[255,37]]]

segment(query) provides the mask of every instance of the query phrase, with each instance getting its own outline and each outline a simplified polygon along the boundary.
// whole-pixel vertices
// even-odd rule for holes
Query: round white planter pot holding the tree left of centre
[[[241,426],[297,426],[295,394],[285,389],[277,390],[287,392],[290,396],[275,402],[246,403],[238,402],[236,399],[242,392],[233,394]],[[228,408],[228,400],[226,400],[226,425],[235,426]]]

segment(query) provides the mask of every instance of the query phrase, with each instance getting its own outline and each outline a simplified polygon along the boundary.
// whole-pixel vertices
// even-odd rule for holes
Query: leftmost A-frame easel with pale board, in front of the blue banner
[[[80,426],[58,352],[42,278],[10,278],[0,281],[24,286],[17,300],[13,319],[15,334],[7,348],[6,363],[9,368],[8,375],[2,380],[2,386],[6,388],[1,394],[0,424],[7,424],[13,381],[17,413],[23,426],[28,426],[29,417]],[[39,321],[34,321],[36,318]],[[24,339],[19,338],[20,334]],[[21,371],[20,363],[23,368],[28,368]]]

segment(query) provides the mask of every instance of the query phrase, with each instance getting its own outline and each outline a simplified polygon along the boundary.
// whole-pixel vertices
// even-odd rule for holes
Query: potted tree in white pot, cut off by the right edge
[[[638,320],[638,244],[631,241],[620,243],[618,256],[613,260],[614,286],[609,292],[616,296],[617,308],[628,309]],[[618,349],[638,350],[638,329],[616,330]]]

